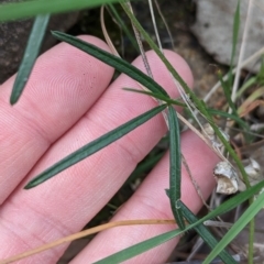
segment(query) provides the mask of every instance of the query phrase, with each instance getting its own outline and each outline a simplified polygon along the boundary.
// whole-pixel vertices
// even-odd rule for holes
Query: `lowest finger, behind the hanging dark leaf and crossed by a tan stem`
[[[218,157],[193,132],[185,132],[182,135],[182,151],[202,196],[208,198],[215,186],[212,169],[218,162]],[[173,219],[169,199],[165,194],[169,180],[168,169],[169,157],[168,153],[166,153],[132,198],[120,208],[112,221]],[[185,168],[183,168],[182,176],[182,200],[191,211],[197,212],[202,206],[201,199],[197,195],[197,190]],[[72,263],[94,263],[120,250],[174,229],[176,227],[172,224],[151,224],[107,230],[98,234]],[[165,263],[177,242],[178,239],[174,239],[131,258],[128,263]]]

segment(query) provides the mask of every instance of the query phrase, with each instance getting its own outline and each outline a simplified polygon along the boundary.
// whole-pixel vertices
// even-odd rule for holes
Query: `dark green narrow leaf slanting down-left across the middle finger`
[[[35,178],[33,178],[24,188],[30,189],[33,188],[43,182],[52,178],[56,174],[63,172],[64,169],[73,166],[74,164],[82,161],[84,158],[90,156],[91,154],[100,151],[105,146],[111,144],[112,142],[117,141],[118,139],[122,138],[123,135],[128,134],[130,131],[134,130],[139,125],[143,124],[147,120],[155,117],[157,113],[163,111],[167,106],[163,105],[130,120],[129,122],[118,127],[117,129],[106,133],[105,135],[100,136],[99,139],[88,143],[87,145],[80,147],[79,150],[75,151],[74,153],[69,154],[58,163],[54,164]]]

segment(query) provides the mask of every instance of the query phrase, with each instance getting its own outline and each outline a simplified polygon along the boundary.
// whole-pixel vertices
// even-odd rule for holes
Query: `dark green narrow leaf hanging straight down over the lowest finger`
[[[185,229],[185,221],[178,206],[180,200],[180,183],[182,183],[182,156],[180,156],[180,139],[179,124],[175,109],[168,106],[168,128],[169,128],[169,201],[174,218],[180,230]]]

